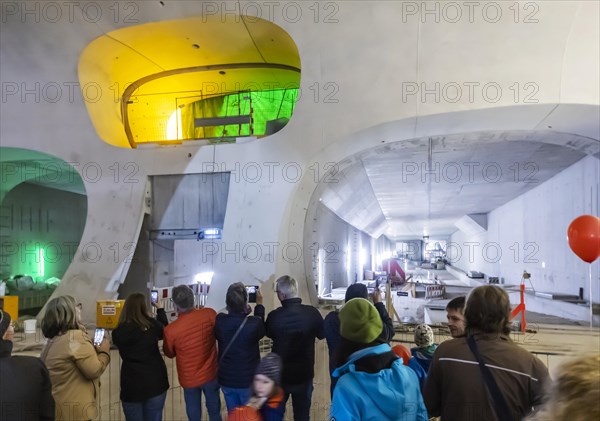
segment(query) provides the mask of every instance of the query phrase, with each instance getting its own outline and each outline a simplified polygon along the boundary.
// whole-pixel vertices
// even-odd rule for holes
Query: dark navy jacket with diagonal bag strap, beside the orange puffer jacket
[[[265,308],[261,304],[256,305],[254,316],[248,317],[246,324],[223,358],[225,348],[245,317],[244,313],[217,315],[215,337],[219,344],[218,378],[221,386],[237,389],[250,387],[254,370],[260,361],[258,341],[265,336]]]

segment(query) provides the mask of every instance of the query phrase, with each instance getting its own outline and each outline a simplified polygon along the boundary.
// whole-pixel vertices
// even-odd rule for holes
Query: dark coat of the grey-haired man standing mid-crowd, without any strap
[[[300,298],[283,300],[269,313],[267,336],[283,363],[284,385],[306,383],[315,376],[315,338],[323,339],[323,316]]]

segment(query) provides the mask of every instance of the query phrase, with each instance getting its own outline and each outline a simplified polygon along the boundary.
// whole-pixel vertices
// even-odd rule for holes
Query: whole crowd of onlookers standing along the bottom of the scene
[[[315,341],[324,338],[332,421],[600,418],[600,357],[564,365],[552,383],[546,366],[510,339],[510,302],[497,286],[448,303],[452,339],[437,344],[420,324],[410,350],[390,346],[394,329],[377,289],[369,297],[364,285],[351,285],[342,308],[325,319],[302,304],[290,276],[277,279],[275,291],[281,307],[265,315],[260,290],[252,310],[245,286],[234,283],[227,312],[217,314],[197,308],[189,287],[176,286],[171,323],[160,303],[151,315],[145,294],[127,297],[112,332],[126,419],[162,420],[170,386],[162,341],[164,355],[175,358],[189,420],[201,419],[203,396],[209,420],[221,420],[221,392],[229,421],[281,421],[290,398],[294,420],[309,420]],[[47,343],[40,358],[12,356],[11,317],[0,311],[0,420],[97,419],[109,339],[92,341],[70,296],[47,303],[41,330]],[[265,336],[272,352],[261,359]]]

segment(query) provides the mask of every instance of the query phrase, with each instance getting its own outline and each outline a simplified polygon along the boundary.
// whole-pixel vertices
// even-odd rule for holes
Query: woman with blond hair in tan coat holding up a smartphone
[[[50,373],[57,420],[98,417],[99,379],[110,362],[108,339],[94,346],[79,310],[69,295],[53,298],[41,323],[48,342],[40,358]]]

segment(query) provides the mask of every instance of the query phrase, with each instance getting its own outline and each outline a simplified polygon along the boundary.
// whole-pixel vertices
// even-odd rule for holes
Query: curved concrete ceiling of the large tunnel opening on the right
[[[315,194],[374,237],[444,238],[462,216],[504,205],[592,150],[598,150],[593,139],[535,132],[398,141],[340,162]]]

